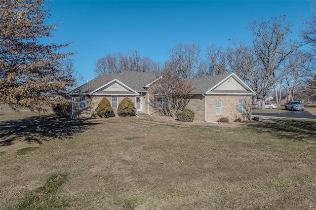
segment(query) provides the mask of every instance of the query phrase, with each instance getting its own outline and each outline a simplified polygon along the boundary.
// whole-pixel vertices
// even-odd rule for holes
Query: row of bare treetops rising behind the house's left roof
[[[126,55],[121,52],[109,53],[95,62],[95,76],[105,73],[120,73],[130,71],[154,71],[159,65],[149,57],[141,56],[137,50],[129,50]]]

